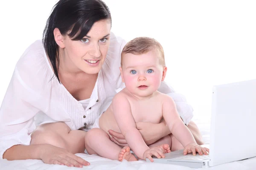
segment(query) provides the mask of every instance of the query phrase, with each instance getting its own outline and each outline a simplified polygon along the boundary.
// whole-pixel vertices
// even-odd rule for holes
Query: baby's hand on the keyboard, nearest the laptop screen
[[[197,143],[190,143],[188,145],[186,145],[183,154],[186,155],[188,153],[192,153],[194,156],[196,155],[196,153],[199,153],[199,155],[207,155],[209,152],[209,149],[207,147],[201,147],[200,145],[198,145]]]

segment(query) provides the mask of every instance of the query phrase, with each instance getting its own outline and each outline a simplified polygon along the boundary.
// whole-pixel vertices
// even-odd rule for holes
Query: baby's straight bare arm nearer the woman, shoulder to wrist
[[[116,123],[122,135],[125,136],[127,144],[140,159],[143,159],[143,153],[149,147],[145,144],[139,130],[136,128],[128,99],[121,93],[116,94],[112,101],[112,107]]]

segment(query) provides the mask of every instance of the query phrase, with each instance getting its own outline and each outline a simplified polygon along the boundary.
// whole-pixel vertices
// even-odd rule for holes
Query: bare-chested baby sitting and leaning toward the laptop
[[[98,128],[87,132],[85,147],[89,154],[119,161],[136,161],[131,149],[139,159],[153,161],[153,155],[165,157],[164,153],[170,152],[171,144],[180,143],[186,152],[207,154],[209,150],[195,142],[183,123],[173,99],[157,91],[167,71],[159,42],[148,37],[138,37],[128,42],[121,54],[120,71],[126,87],[114,96],[109,108],[96,120],[94,127]],[[162,119],[180,143],[169,140],[168,144],[164,144],[159,140],[147,146],[136,128],[136,122],[160,123]],[[113,143],[108,135],[109,129],[122,133],[128,146],[120,148]]]

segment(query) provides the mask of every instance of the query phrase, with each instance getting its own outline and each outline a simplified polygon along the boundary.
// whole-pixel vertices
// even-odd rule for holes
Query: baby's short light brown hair
[[[158,55],[160,65],[165,65],[164,52],[162,45],[155,39],[149,37],[137,37],[129,41],[121,53],[121,66],[124,54],[131,53],[134,55],[145,54],[154,50]]]

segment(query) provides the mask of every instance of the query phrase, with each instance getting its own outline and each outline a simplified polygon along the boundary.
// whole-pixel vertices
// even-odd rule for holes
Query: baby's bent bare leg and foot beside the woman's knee
[[[85,148],[89,154],[98,154],[99,156],[122,161],[137,161],[134,155],[130,153],[130,147],[123,149],[113,143],[108,133],[99,128],[89,130],[85,136]]]

